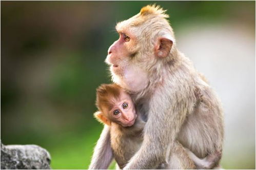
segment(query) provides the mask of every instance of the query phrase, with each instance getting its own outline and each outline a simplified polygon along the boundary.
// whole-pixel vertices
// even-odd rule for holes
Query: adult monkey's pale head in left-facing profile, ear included
[[[163,63],[171,60],[174,42],[164,17],[148,19],[142,12],[116,25],[120,37],[109,47],[105,60],[113,82],[130,92],[141,92],[156,72],[162,72]]]

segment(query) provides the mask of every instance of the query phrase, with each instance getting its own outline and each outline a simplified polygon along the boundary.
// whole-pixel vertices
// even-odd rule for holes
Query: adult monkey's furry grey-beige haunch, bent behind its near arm
[[[218,167],[222,155],[223,118],[218,102],[207,105],[207,99],[214,99],[211,91],[202,91],[202,101],[197,105],[193,114],[189,115],[178,135],[180,143],[188,148],[188,154],[198,168]],[[210,162],[210,163],[209,163]],[[204,167],[203,167],[204,166]]]

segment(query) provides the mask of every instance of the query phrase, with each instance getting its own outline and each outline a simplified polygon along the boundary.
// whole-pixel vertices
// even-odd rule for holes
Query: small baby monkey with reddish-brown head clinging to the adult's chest
[[[94,116],[110,126],[113,156],[119,167],[123,169],[141,147],[146,122],[136,113],[131,96],[115,83],[102,84],[97,88],[96,107],[99,111],[95,112]],[[221,158],[220,152],[200,159],[187,148],[185,150],[198,169],[210,169]],[[165,163],[157,168],[165,168]]]

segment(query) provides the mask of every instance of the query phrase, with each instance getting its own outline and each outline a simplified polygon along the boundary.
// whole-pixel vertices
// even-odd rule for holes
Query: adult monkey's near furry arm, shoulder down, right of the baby
[[[187,114],[192,112],[195,100],[192,92],[188,93],[187,89],[190,88],[188,83],[179,82],[184,79],[174,79],[174,81],[178,82],[171,84],[177,86],[155,91],[149,102],[148,121],[144,129],[142,146],[124,169],[154,169],[161,162],[168,161],[170,153],[174,152],[175,138]]]

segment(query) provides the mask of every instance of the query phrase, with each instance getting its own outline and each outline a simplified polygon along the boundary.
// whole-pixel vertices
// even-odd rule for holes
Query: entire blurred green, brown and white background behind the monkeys
[[[93,146],[103,128],[92,114],[96,111],[96,87],[110,82],[104,59],[108,47],[118,37],[114,26],[153,3],[168,10],[178,48],[180,45],[196,68],[206,74],[223,101],[226,114],[223,168],[254,169],[254,1],[2,1],[3,143],[41,145],[50,152],[54,169],[88,168]],[[240,39],[235,37],[238,34]],[[206,43],[200,38],[206,38]],[[202,46],[196,43],[197,39]],[[217,43],[209,44],[214,39]],[[235,42],[239,43],[234,47]],[[201,47],[206,54],[211,53],[212,62],[202,54]],[[225,62],[223,53],[217,54],[222,49],[226,51],[225,56],[231,57]],[[234,54],[233,49],[237,50]],[[245,64],[241,68],[242,63]],[[228,80],[230,76],[233,81]],[[234,108],[238,103],[241,110]]]

